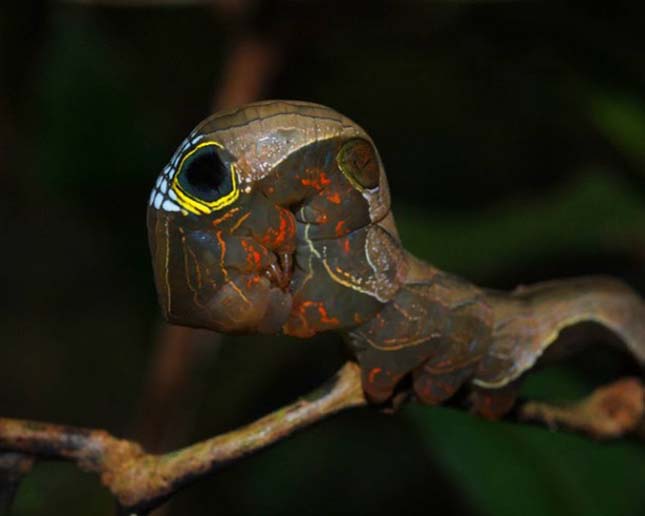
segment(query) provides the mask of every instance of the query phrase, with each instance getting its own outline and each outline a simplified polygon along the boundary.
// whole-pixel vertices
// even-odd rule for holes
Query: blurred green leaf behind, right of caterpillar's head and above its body
[[[548,197],[505,203],[477,217],[395,205],[413,253],[471,278],[573,253],[616,252],[641,241],[645,205],[622,178],[592,172]]]

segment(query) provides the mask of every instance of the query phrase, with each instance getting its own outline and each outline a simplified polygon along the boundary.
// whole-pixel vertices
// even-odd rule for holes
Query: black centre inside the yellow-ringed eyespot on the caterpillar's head
[[[212,202],[231,192],[231,174],[214,148],[200,149],[186,160],[179,184],[191,196]]]

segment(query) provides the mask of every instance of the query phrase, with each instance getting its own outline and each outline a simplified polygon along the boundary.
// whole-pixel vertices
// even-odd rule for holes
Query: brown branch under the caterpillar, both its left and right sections
[[[637,432],[645,421],[645,388],[635,378],[601,387],[585,400],[563,407],[527,403],[522,420],[562,425],[594,438]],[[17,484],[33,458],[64,459],[97,473],[125,514],[145,513],[191,481],[250,455],[341,410],[367,404],[358,366],[348,362],[308,396],[237,430],[163,455],[146,453],[132,441],[104,430],[0,418],[0,484]],[[432,410],[429,408],[428,410]],[[4,472],[3,472],[4,464]],[[8,489],[9,498],[13,484]],[[2,494],[0,485],[0,494]],[[1,497],[0,497],[1,498]]]

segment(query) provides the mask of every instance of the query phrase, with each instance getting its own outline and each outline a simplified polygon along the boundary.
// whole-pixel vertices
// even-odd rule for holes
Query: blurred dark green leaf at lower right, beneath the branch
[[[426,453],[491,516],[637,515],[645,507],[645,450],[600,444],[444,408],[410,406]]]

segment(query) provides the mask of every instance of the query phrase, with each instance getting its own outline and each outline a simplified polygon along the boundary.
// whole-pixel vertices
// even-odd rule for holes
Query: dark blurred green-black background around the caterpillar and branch
[[[235,97],[222,85],[245,41],[266,65],[259,97],[332,106],[372,135],[414,253],[492,287],[611,273],[645,291],[640,3],[109,3],[0,12],[2,416],[146,442],[142,421],[159,419],[161,403],[166,437],[155,442],[167,450],[248,422],[342,363],[333,336],[225,337],[186,347],[198,358],[180,393],[150,399],[168,330],[148,257],[149,188],[188,131]],[[532,375],[524,395],[584,395],[622,367],[603,353]],[[324,421],[164,511],[636,516],[644,485],[636,441],[410,405]],[[113,508],[95,476],[41,463],[15,514]]]

